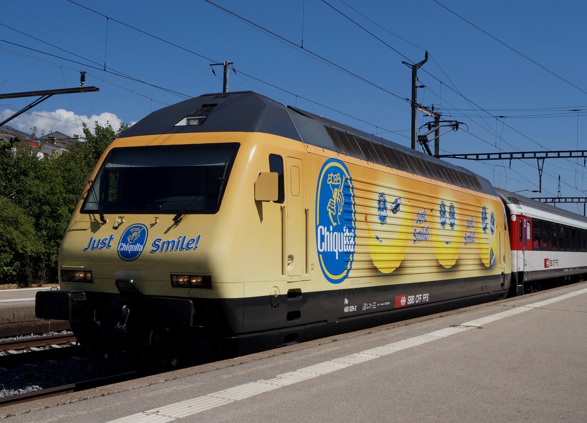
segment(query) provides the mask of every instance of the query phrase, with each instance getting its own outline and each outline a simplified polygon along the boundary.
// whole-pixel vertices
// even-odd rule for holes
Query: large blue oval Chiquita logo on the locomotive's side
[[[355,256],[355,192],[345,163],[328,159],[316,186],[316,247],[322,273],[332,284],[349,275]]]

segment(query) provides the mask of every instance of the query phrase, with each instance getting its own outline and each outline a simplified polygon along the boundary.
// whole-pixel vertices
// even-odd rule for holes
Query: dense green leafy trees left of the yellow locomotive
[[[84,124],[85,140],[42,159],[25,141],[0,149],[0,280],[21,286],[56,281],[61,240],[86,179],[126,128],[95,122],[92,133]]]

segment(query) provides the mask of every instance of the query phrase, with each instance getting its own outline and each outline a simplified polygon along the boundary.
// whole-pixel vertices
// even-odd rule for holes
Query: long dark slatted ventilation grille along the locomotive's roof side
[[[325,125],[336,151],[348,156],[483,192],[475,176]]]

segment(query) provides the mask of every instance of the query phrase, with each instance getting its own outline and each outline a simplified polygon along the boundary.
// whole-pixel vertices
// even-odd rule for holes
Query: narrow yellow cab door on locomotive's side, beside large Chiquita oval
[[[306,267],[306,213],[303,208],[303,162],[288,157],[285,160],[287,182],[287,248],[286,268],[291,280],[299,281]]]

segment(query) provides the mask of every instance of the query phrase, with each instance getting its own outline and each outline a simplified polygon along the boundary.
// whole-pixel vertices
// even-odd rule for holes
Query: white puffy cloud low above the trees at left
[[[4,120],[14,114],[13,110],[6,109],[0,112],[0,118]],[[22,114],[14,120],[8,122],[6,125],[18,129],[23,132],[31,132],[32,127],[36,127],[37,135],[49,134],[50,132],[59,131],[66,135],[83,135],[82,123],[87,124],[90,130],[94,127],[94,122],[100,125],[106,125],[109,122],[116,131],[122,120],[114,113],[103,112],[99,115],[76,115],[72,111],[57,109],[55,111],[35,111],[33,114]]]

